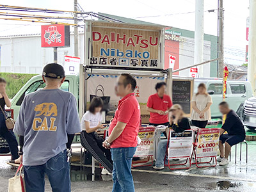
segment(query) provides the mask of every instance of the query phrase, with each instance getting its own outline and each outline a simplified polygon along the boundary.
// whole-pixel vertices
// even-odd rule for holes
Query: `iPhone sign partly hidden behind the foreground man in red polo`
[[[154,154],[154,127],[141,127],[138,136],[141,139],[134,157],[150,157]]]

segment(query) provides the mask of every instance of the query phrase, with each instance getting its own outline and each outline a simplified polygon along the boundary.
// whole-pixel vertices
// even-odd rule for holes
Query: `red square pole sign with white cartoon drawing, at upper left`
[[[70,47],[69,26],[41,26],[41,47]]]

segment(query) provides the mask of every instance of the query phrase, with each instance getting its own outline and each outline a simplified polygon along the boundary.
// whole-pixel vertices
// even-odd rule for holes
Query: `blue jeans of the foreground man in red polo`
[[[134,192],[131,167],[135,151],[136,147],[111,148],[114,167],[112,192]]]

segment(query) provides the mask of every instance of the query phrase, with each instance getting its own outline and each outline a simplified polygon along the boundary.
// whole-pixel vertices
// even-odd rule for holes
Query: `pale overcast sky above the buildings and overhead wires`
[[[77,0],[84,12],[102,12],[121,17],[144,20],[174,28],[195,30],[196,0]],[[243,3],[242,3],[243,2]],[[72,0],[0,0],[0,4],[74,10]],[[245,62],[246,18],[249,16],[249,0],[223,0],[224,8],[224,61],[242,65]],[[204,33],[218,35],[218,0],[204,1]],[[208,10],[215,10],[208,12]],[[0,10],[0,12],[4,12]],[[43,15],[42,13],[34,13]],[[47,13],[49,15],[49,13]],[[62,16],[62,15],[61,15]],[[63,14],[63,16],[70,16]],[[4,16],[0,16],[4,18]],[[40,33],[40,23],[0,20],[1,35]]]

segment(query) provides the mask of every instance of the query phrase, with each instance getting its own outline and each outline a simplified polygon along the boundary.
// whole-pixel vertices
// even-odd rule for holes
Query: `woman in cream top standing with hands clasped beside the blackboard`
[[[191,120],[192,125],[199,128],[205,128],[208,121],[211,120],[212,98],[207,93],[204,83],[198,85],[198,92],[193,95],[192,100],[192,113]]]

